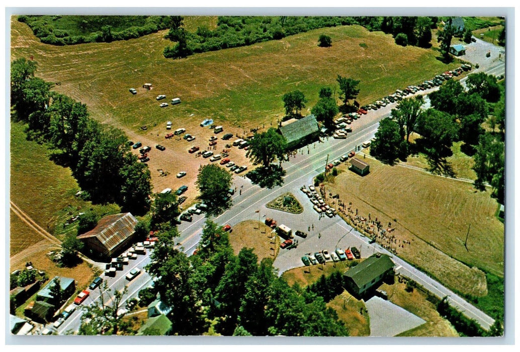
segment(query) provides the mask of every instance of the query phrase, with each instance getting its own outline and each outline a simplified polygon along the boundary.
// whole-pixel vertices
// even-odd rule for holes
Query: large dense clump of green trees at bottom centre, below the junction
[[[173,333],[198,335],[214,323],[223,335],[346,336],[323,297],[290,287],[272,259],[252,249],[233,254],[228,233],[207,220],[194,255],[174,247],[175,228],[160,231],[148,272],[172,313]]]

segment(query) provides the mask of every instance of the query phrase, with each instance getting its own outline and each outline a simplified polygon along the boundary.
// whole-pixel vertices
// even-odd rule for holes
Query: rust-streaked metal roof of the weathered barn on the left
[[[97,226],[77,238],[86,239],[97,237],[109,251],[112,251],[121,242],[134,233],[137,219],[131,213],[107,215],[99,220]]]

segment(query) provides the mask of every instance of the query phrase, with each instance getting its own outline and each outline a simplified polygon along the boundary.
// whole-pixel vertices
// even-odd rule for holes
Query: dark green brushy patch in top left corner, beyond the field
[[[18,21],[52,45],[128,40],[170,26],[168,16],[18,16]]]

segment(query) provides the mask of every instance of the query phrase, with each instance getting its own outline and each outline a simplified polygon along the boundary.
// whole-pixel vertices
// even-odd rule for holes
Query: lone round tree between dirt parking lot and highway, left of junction
[[[202,165],[195,185],[199,189],[198,199],[209,208],[209,214],[217,214],[230,204],[228,190],[231,186],[231,174],[215,165]]]

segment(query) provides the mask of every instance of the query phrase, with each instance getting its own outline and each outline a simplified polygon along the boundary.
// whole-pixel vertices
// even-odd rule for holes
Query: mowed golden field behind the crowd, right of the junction
[[[497,202],[489,192],[475,192],[467,182],[388,166],[371,158],[362,160],[370,165],[367,176],[342,165],[344,172],[326,189],[339,193],[342,202],[352,202],[361,216],[370,214],[385,227],[392,222],[392,235],[411,243],[396,246],[399,256],[450,288],[486,295],[484,273],[470,267],[501,277],[504,272],[504,225],[495,217]],[[470,225],[466,251],[464,240]]]

